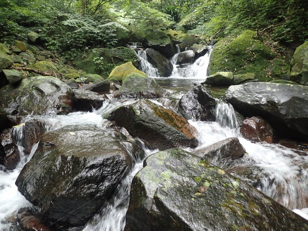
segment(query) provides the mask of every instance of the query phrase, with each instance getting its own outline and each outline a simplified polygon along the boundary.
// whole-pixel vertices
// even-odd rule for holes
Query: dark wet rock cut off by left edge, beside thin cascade
[[[5,129],[0,135],[0,142],[1,164],[7,169],[14,169],[20,161],[20,156],[13,137],[13,129]]]

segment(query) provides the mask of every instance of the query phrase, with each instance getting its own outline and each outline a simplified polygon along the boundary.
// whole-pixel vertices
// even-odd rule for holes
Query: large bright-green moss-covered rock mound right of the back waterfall
[[[266,76],[265,70],[274,57],[255,32],[247,30],[231,41],[226,37],[215,45],[209,65],[210,75],[218,71],[232,71],[235,75],[250,72],[260,81],[270,81],[273,79]]]

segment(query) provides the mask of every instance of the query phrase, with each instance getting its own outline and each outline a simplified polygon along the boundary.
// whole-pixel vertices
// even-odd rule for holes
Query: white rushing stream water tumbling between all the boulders
[[[176,54],[171,59],[173,71],[168,78],[160,77],[157,69],[148,62],[145,52],[138,51],[141,60],[140,70],[155,78],[158,84],[172,92],[168,97],[152,99],[151,101],[178,113],[177,107],[180,98],[193,87],[193,83],[204,82],[207,76],[206,73],[208,73],[211,51],[212,47],[209,47],[206,55],[198,58],[195,63],[185,68],[179,68],[179,65],[176,65],[178,55]],[[49,131],[76,124],[95,125],[104,129],[108,124],[108,120],[104,118],[111,111],[136,101],[132,99],[108,99],[101,108],[92,112],[73,112],[68,115],[53,116],[28,115],[22,122],[27,123],[36,118],[47,120],[52,124]],[[186,148],[185,150],[194,152],[228,137],[237,137],[246,150],[245,156],[228,162],[213,158],[212,163],[253,185],[261,192],[308,220],[307,152],[287,148],[281,144],[252,143],[244,139],[239,132],[233,107],[222,99],[217,102],[215,115],[216,122],[188,121],[197,129],[196,137],[199,145],[195,149]],[[20,144],[23,136],[22,126],[14,128],[14,136],[17,144]],[[145,151],[145,157],[158,151],[147,147],[142,140],[136,140],[138,141],[138,146]],[[16,217],[18,209],[31,206],[30,202],[18,192],[15,180],[37,147],[38,144],[35,144],[30,155],[25,156],[23,147],[18,146],[21,161],[14,170],[3,170],[0,166],[0,230],[18,230],[14,229],[14,217]],[[102,206],[102,209],[82,230],[124,230],[131,181],[142,166],[143,159],[136,160],[130,169],[130,173],[121,180],[111,199]]]

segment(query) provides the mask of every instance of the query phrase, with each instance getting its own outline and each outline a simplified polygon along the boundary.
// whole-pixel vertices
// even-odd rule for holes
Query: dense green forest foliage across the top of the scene
[[[26,39],[36,30],[47,49],[67,59],[146,28],[206,38],[249,29],[284,45],[308,38],[308,2],[301,0],[4,0],[0,6],[0,37]]]

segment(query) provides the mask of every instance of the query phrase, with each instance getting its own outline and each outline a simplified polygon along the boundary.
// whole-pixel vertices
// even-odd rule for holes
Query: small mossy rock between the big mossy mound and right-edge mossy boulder
[[[274,59],[273,63],[267,67],[267,71],[274,79],[290,79],[290,65],[281,59]]]

